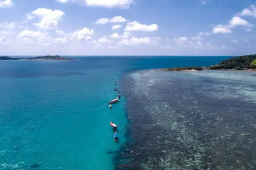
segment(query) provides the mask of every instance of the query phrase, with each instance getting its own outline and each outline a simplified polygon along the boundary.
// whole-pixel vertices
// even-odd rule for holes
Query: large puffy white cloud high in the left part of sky
[[[64,14],[63,11],[56,9],[38,8],[32,11],[31,14],[27,14],[27,19],[38,17],[40,22],[34,23],[35,26],[41,29],[53,29],[57,27],[58,22],[62,19]]]

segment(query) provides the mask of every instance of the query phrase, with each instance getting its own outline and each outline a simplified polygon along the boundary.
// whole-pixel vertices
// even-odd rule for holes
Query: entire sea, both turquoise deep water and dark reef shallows
[[[79,60],[0,61],[0,164],[7,164],[5,169],[117,170],[127,167],[156,170],[173,167],[179,170],[177,168],[184,169],[185,165],[204,169],[201,164],[214,159],[211,162],[214,165],[209,165],[212,168],[223,164],[215,159],[215,150],[211,148],[213,151],[210,152],[208,148],[213,138],[227,142],[220,135],[225,136],[226,131],[224,134],[224,130],[216,128],[217,125],[224,128],[225,124],[216,119],[223,119],[223,111],[230,112],[225,109],[232,108],[236,113],[233,119],[237,121],[241,121],[238,112],[244,113],[239,126],[246,126],[243,134],[250,131],[246,121],[254,119],[254,98],[249,92],[255,88],[255,82],[251,82],[255,74],[148,71],[151,68],[214,65],[230,58],[228,56],[73,57]],[[118,81],[116,85],[112,77]],[[216,80],[219,77],[222,77],[221,81]],[[247,82],[246,87],[243,84],[236,86],[234,81],[241,83],[241,79]],[[230,82],[233,88],[229,86]],[[109,109],[108,101],[116,98],[114,88],[122,96]],[[241,90],[247,92],[244,101],[241,101]],[[197,114],[187,116],[188,109]],[[203,113],[205,115],[200,116]],[[188,119],[198,121],[189,122]],[[214,119],[215,124],[207,124],[210,119]],[[110,121],[118,125],[119,140],[116,143]],[[231,123],[229,126],[230,130],[236,127]],[[202,134],[207,133],[207,128],[212,133],[202,142]],[[185,132],[186,135],[182,135]],[[201,152],[198,146],[201,146]],[[216,144],[218,150],[223,149],[222,146]],[[242,152],[244,145],[240,142],[236,147]],[[177,156],[188,148],[197,157],[191,158],[189,153]],[[211,154],[210,161],[206,158]],[[251,156],[250,160],[253,158]],[[178,159],[180,163],[177,163]],[[254,166],[253,161],[250,164]]]

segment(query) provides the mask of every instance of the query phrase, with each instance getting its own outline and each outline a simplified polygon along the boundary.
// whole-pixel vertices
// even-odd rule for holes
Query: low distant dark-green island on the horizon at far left
[[[0,57],[0,60],[76,60],[60,56],[40,56],[40,57],[25,57],[25,58],[12,58],[8,56]]]

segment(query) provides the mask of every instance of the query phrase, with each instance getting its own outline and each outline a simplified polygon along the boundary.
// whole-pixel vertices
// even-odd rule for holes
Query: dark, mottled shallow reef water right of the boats
[[[125,158],[117,157],[116,163],[128,157],[132,170],[256,169],[254,74],[126,74],[122,89],[132,142]]]

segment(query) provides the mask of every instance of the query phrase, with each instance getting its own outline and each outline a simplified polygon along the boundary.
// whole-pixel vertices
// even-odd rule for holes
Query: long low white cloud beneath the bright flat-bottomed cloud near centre
[[[123,39],[117,43],[117,45],[157,45],[158,41],[160,40],[159,37],[145,37],[145,38],[138,38],[138,37],[132,37],[131,39]]]

